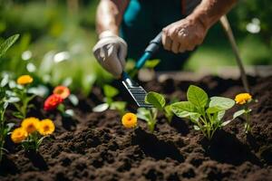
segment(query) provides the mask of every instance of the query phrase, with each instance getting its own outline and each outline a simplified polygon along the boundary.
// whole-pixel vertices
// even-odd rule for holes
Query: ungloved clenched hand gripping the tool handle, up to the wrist
[[[185,18],[162,29],[162,44],[175,53],[192,51],[203,42],[207,31],[198,20]]]

